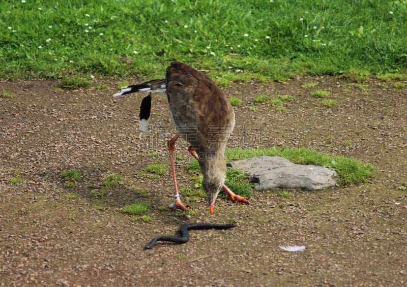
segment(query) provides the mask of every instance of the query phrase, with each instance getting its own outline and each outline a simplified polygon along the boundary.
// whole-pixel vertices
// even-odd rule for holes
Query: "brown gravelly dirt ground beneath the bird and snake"
[[[189,203],[198,215],[186,218],[159,210],[172,200],[165,97],[153,99],[146,141],[137,129],[143,95],[113,99],[115,79],[76,90],[59,81],[0,81],[0,92],[15,94],[0,98],[0,285],[407,285],[407,88],[397,83],[406,82],[301,77],[224,89],[242,100],[230,146],[306,147],[371,163],[375,174],[360,185],[290,190],[288,198],[255,193],[250,206],[218,200],[213,216],[198,199]],[[337,104],[323,106],[310,95],[316,89]],[[278,110],[253,104],[259,94],[294,101]],[[178,184],[192,186],[182,141],[177,154]],[[144,171],[152,163],[166,174]],[[82,174],[77,187],[64,186],[67,170]],[[110,174],[123,180],[103,197],[84,188]],[[10,182],[18,177],[21,183]],[[149,222],[122,212],[140,200],[151,204]],[[187,244],[143,249],[186,222],[238,227],[191,231]],[[285,252],[283,244],[306,249]]]

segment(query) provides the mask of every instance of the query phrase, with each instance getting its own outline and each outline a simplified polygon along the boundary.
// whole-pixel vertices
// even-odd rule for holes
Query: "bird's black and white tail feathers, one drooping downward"
[[[130,85],[122,87],[122,90],[113,94],[114,98],[122,97],[125,94],[143,91],[148,92],[147,96],[143,98],[140,105],[140,122],[138,129],[144,133],[148,132],[150,113],[151,113],[151,94],[152,93],[165,93],[167,90],[167,83],[165,79],[152,80],[138,85]]]

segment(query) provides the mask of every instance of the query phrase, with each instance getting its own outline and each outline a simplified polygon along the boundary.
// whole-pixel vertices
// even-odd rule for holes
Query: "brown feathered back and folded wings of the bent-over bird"
[[[181,62],[172,62],[167,68],[166,82],[171,115],[180,135],[203,151],[224,150],[235,126],[235,113],[222,90]],[[185,136],[182,129],[186,126]]]

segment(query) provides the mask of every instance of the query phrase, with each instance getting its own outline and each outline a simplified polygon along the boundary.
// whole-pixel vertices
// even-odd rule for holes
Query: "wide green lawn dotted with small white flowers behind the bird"
[[[405,73],[405,15],[404,1],[2,1],[0,77],[162,77],[173,59],[221,85]]]

